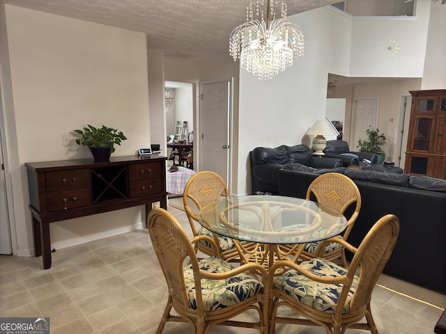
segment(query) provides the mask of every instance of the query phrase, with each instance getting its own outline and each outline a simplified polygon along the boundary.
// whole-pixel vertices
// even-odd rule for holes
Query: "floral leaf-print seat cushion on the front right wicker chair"
[[[345,268],[318,257],[310,261],[302,262],[300,266],[319,276],[337,277],[347,272]],[[353,279],[350,292],[348,293],[346,303],[342,310],[343,313],[347,313],[350,309],[351,299],[355,293],[358,279],[357,276]],[[328,313],[334,313],[342,291],[342,285],[318,283],[300,275],[295,270],[289,270],[281,276],[276,276],[274,278],[274,286],[276,289],[280,289],[289,296],[298,299],[301,303]]]

